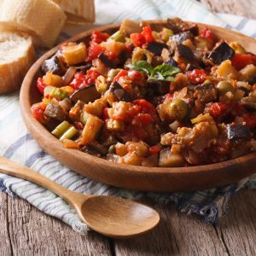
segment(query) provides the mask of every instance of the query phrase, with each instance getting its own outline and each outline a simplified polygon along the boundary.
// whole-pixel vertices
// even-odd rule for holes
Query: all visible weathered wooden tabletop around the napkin
[[[256,19],[254,0],[205,1],[213,11]],[[253,6],[254,8],[251,8]],[[201,218],[156,207],[162,222],[151,234],[127,241],[96,233],[80,236],[26,201],[0,193],[0,255],[256,255],[256,191],[241,190],[217,227]],[[152,205],[152,204],[151,204]]]

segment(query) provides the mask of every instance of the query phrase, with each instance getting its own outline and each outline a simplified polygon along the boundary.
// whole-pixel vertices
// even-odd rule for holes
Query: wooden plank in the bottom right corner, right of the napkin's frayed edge
[[[229,214],[221,218],[218,236],[230,255],[256,255],[256,191],[241,190],[231,200]]]

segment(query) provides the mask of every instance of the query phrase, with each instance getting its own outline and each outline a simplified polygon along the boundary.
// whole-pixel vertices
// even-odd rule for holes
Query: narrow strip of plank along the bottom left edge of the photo
[[[9,238],[9,219],[7,212],[8,195],[0,192],[0,255],[9,256],[12,254],[12,248]]]

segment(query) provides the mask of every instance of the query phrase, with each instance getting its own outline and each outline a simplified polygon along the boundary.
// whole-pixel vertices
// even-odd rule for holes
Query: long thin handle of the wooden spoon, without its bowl
[[[69,189],[61,187],[61,185],[53,182],[48,177],[43,176],[42,174],[33,171],[32,169],[21,166],[11,160],[8,160],[4,157],[0,157],[0,172],[8,174],[14,177],[20,177],[22,179],[28,180],[32,183],[37,183],[45,189],[49,189],[54,192],[56,195],[61,196],[61,198],[68,203],[73,205],[73,202],[83,202],[86,199],[86,196],[90,195],[81,195],[79,193],[73,192]]]

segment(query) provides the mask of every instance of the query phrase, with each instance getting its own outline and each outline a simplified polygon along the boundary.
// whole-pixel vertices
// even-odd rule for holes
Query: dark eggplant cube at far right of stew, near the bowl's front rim
[[[252,135],[247,125],[227,125],[227,137],[229,140],[249,140],[252,138]]]

